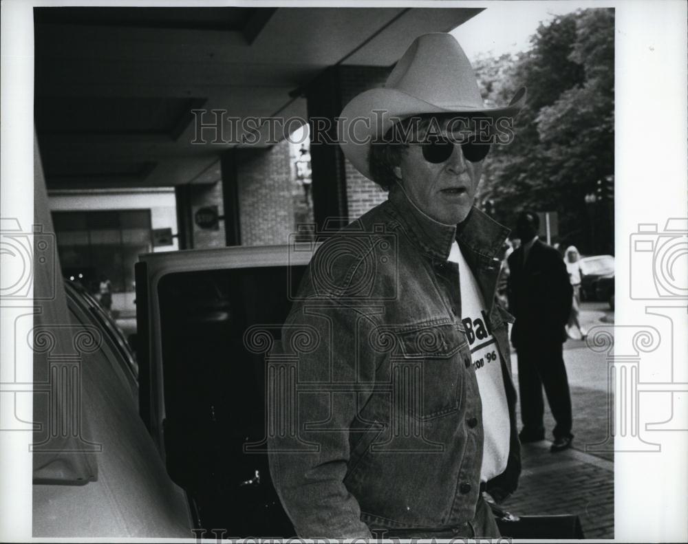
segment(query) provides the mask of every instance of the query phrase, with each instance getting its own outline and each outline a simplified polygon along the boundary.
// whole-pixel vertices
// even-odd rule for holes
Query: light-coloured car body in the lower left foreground
[[[193,538],[184,492],[138,416],[121,332],[69,282],[56,301],[34,328],[34,342],[51,342],[34,355],[34,537]]]

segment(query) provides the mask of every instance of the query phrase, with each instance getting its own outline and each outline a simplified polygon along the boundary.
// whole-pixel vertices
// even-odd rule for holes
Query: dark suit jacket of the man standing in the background
[[[573,288],[559,252],[536,240],[523,264],[523,246],[510,254],[509,310],[515,316],[512,338],[528,342],[566,340]]]

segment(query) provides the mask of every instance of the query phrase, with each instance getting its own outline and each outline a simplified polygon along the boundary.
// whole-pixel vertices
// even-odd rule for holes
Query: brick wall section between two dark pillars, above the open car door
[[[242,246],[287,243],[294,230],[289,142],[237,150]]]

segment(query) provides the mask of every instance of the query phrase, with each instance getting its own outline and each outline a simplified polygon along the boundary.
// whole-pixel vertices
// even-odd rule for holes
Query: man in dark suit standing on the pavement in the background
[[[508,258],[509,308],[516,322],[511,339],[518,353],[521,397],[521,442],[544,439],[542,386],[557,425],[552,452],[570,447],[571,395],[562,344],[571,311],[572,287],[566,265],[554,248],[537,238],[536,213],[519,215],[516,234],[521,246]]]

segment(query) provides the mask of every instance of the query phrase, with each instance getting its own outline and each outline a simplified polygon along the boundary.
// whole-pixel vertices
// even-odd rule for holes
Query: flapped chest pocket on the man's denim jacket
[[[458,411],[468,341],[455,323],[390,327],[389,381],[398,415],[429,420]],[[470,358],[470,355],[468,355]]]

